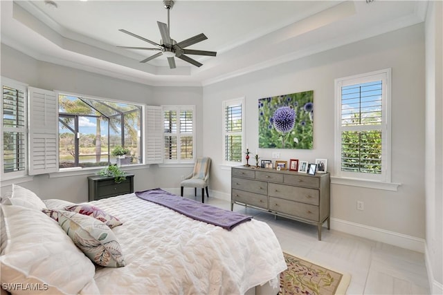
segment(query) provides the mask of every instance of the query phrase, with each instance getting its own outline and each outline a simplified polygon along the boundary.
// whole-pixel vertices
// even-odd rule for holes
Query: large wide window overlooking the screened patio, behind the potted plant
[[[60,168],[143,162],[142,107],[103,99],[59,95]],[[127,155],[113,155],[121,146]]]

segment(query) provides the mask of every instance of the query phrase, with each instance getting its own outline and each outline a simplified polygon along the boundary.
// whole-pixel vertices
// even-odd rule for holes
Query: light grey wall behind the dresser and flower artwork
[[[333,225],[347,222],[399,234],[422,243],[424,198],[424,26],[417,25],[204,87],[204,153],[213,158],[210,187],[230,194],[230,170],[222,164],[224,99],[246,97],[246,142],[258,146],[257,99],[314,91],[314,149],[281,149],[281,160],[329,160],[334,171],[334,79],[392,68],[392,182],[398,191],[331,185]],[[271,159],[272,149],[259,149]],[[365,202],[364,211],[356,201]]]

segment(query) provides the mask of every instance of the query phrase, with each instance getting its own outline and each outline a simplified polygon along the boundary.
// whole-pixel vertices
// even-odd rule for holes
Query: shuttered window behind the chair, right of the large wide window
[[[163,159],[193,162],[195,158],[195,106],[163,106]]]

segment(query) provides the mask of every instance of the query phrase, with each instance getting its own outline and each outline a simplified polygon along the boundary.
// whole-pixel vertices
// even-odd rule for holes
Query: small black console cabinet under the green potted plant
[[[126,174],[126,179],[119,183],[114,181],[114,177],[88,176],[88,184],[89,202],[134,193],[134,174]]]

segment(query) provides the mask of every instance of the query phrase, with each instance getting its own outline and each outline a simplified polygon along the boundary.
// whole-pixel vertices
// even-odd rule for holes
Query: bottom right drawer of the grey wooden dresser
[[[269,197],[269,210],[318,222],[318,206]]]

